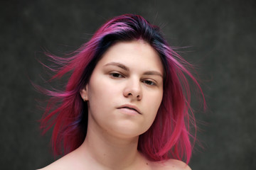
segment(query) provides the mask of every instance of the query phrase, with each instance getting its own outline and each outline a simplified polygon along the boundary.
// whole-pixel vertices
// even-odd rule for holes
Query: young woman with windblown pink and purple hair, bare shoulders
[[[117,16],[70,56],[48,56],[61,66],[53,79],[72,74],[65,91],[46,91],[41,128],[54,126],[65,156],[43,169],[190,169],[186,77],[201,88],[157,26]]]

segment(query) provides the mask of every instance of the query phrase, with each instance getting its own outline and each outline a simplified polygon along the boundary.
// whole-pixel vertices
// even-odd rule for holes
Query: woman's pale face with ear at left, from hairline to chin
[[[112,45],[80,91],[88,105],[88,128],[117,137],[146,132],[161,104],[163,74],[159,55],[147,42]]]

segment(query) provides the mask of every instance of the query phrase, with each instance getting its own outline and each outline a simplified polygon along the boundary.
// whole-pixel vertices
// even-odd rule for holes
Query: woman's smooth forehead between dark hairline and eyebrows
[[[163,65],[158,52],[144,40],[115,43],[102,55],[97,65],[104,65],[108,62],[120,62],[127,67],[154,69],[163,73]]]

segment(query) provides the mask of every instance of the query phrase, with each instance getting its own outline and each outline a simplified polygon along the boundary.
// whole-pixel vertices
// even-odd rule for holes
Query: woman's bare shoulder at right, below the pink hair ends
[[[153,167],[157,170],[191,170],[188,164],[177,159],[168,159],[166,161],[155,162]]]

